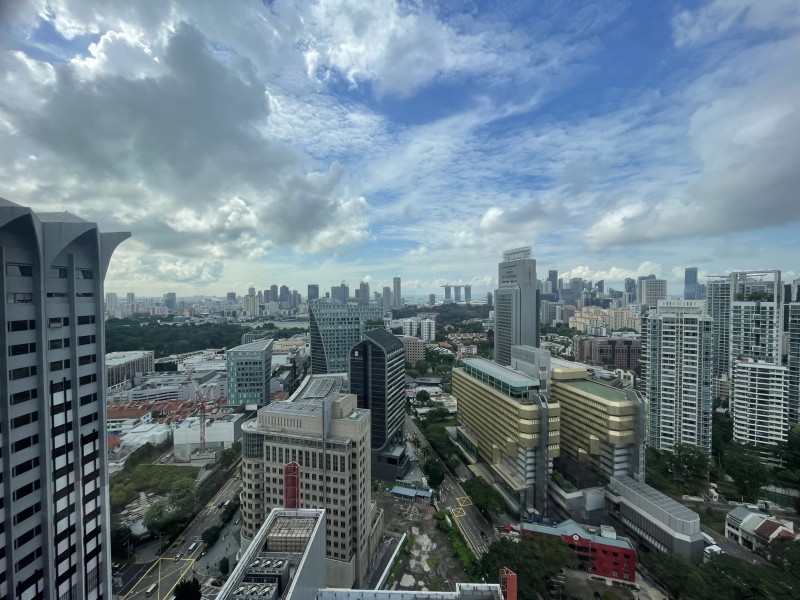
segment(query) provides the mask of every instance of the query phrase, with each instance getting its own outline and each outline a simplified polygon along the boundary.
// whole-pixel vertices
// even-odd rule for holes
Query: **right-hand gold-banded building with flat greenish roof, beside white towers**
[[[587,379],[586,369],[554,369],[550,397],[561,407],[561,455],[608,477],[644,470],[646,408],[641,394]]]

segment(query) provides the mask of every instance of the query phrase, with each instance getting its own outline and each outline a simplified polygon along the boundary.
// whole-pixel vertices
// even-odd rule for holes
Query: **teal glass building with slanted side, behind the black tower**
[[[350,349],[361,341],[367,321],[383,322],[380,306],[318,300],[310,305],[311,372],[347,373]]]

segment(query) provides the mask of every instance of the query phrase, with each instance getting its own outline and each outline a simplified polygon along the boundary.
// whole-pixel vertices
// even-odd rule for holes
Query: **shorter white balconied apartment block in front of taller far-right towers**
[[[733,366],[730,403],[733,439],[755,444],[766,462],[775,461],[772,452],[787,438],[788,374],[788,369],[780,364],[750,358],[737,360]],[[775,464],[779,466],[780,460]]]

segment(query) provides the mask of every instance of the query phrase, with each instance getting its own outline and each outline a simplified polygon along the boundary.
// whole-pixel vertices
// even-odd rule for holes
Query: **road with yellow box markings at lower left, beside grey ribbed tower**
[[[238,473],[238,469],[235,472]],[[162,557],[130,589],[123,590],[123,594],[121,594],[123,600],[144,600],[147,598],[147,589],[153,584],[157,584],[157,588],[150,598],[153,600],[172,598],[173,590],[181,579],[195,574],[195,562],[205,549],[205,544],[201,539],[203,531],[219,523],[222,512],[220,505],[238,494],[240,488],[241,481],[237,478],[232,477],[226,482],[189,523],[180,537],[167,548]],[[189,548],[192,549],[189,550]]]

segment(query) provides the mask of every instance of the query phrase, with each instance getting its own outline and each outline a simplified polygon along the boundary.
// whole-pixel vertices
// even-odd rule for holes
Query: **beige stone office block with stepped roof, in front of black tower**
[[[285,465],[295,462],[302,473],[299,508],[326,509],[326,583],[333,587],[362,585],[370,565],[370,539],[376,534],[370,412],[358,408],[354,394],[343,392],[346,377],[306,377],[288,401],[260,409],[242,425],[242,484],[247,491],[242,494],[242,552],[248,552],[270,511],[283,507],[281,475]]]

